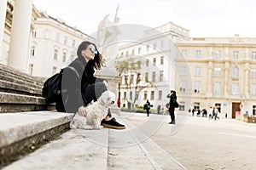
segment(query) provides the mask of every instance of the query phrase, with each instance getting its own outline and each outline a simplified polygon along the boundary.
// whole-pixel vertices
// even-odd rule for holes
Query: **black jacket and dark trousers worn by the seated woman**
[[[79,77],[71,69],[66,68],[63,71],[62,99],[56,102],[55,107],[57,111],[75,113],[80,106],[86,106],[92,100],[96,101],[103,92],[107,91],[107,87],[103,83],[105,79],[94,77],[93,66],[83,57],[73,60],[69,66],[78,71]],[[110,111],[108,115],[111,116]]]

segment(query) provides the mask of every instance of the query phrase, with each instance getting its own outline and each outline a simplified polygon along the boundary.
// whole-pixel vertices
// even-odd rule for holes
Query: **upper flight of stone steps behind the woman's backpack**
[[[42,97],[44,80],[0,64],[0,113],[52,110]]]

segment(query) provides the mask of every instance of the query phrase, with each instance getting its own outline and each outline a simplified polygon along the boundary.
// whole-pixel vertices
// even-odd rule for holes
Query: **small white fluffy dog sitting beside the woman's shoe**
[[[113,105],[114,101],[115,94],[107,90],[96,102],[86,107],[86,117],[79,116],[79,113],[75,114],[70,122],[70,128],[102,129],[101,121],[108,114],[108,107]]]

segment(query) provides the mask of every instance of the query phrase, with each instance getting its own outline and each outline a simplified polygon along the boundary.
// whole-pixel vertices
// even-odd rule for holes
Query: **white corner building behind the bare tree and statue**
[[[119,97],[123,106],[142,106],[147,99],[153,108],[166,108],[166,95],[175,88],[177,38],[189,38],[189,31],[172,22],[144,31],[142,39],[119,48],[117,61],[139,65],[121,73]]]

